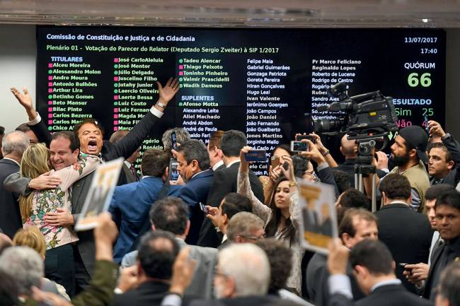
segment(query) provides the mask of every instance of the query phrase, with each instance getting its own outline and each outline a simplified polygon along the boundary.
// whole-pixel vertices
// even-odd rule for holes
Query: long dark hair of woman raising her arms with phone
[[[272,209],[272,215],[267,225],[265,226],[265,234],[267,235],[267,237],[275,237],[275,234],[277,233],[277,230],[281,222],[281,218],[282,218],[281,209],[276,207],[275,194],[276,194],[276,189],[278,188],[278,185],[281,182],[285,182],[285,181],[288,181],[288,179],[286,177],[282,177],[280,180],[278,180],[275,183],[275,187],[273,188],[274,192],[272,194],[272,200],[270,201],[270,208]],[[296,240],[296,237],[297,237],[296,229],[294,228],[294,225],[292,224],[292,220],[289,217],[284,222],[284,228],[282,228],[282,230],[280,231],[279,238],[289,240],[289,244],[292,245],[292,243],[294,243],[294,241]]]

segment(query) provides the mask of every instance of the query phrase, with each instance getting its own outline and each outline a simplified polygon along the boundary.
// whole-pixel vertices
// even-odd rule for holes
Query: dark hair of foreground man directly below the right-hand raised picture
[[[350,252],[350,264],[364,266],[374,276],[393,273],[393,257],[384,242],[364,239],[358,242]]]

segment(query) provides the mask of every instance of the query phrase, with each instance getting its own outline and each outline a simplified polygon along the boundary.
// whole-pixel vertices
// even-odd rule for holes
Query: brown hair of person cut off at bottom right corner
[[[449,300],[449,305],[460,305],[460,262],[452,261],[442,271],[438,294]]]

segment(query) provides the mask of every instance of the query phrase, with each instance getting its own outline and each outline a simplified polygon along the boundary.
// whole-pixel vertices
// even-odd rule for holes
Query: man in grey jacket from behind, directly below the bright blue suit
[[[185,294],[195,298],[211,298],[218,251],[212,247],[198,247],[185,243],[185,237],[187,237],[190,229],[188,215],[188,206],[182,199],[168,196],[156,201],[151,206],[151,228],[152,230],[166,230],[173,233],[180,249],[186,246],[190,247],[190,259],[196,261],[196,268],[192,283]],[[122,268],[136,264],[136,257],[137,251],[126,254],[122,260]]]

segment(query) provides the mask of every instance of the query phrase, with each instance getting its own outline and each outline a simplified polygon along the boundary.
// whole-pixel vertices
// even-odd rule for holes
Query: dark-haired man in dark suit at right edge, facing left
[[[436,227],[444,240],[433,254],[430,271],[428,272],[423,297],[435,300],[435,289],[439,278],[447,264],[457,261],[460,257],[460,193],[447,192],[439,196],[435,205]]]

